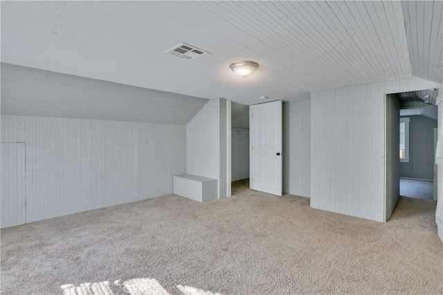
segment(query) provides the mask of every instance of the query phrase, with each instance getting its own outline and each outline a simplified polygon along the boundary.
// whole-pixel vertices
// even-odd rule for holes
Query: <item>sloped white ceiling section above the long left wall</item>
[[[1,64],[1,114],[185,125],[206,102],[206,98]]]

